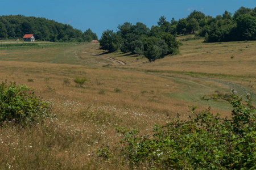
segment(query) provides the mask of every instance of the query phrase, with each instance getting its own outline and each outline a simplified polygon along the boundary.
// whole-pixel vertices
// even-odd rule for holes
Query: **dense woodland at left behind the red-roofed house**
[[[0,39],[20,39],[34,34],[36,40],[52,42],[89,42],[98,40],[89,28],[85,32],[54,20],[23,15],[0,16]]]

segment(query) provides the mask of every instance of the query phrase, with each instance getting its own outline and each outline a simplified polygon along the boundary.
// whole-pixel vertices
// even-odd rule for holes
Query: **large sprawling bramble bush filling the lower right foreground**
[[[119,156],[132,167],[151,169],[256,169],[255,108],[249,97],[246,103],[234,94],[226,100],[233,105],[232,118],[192,107],[193,118],[155,125],[154,135],[117,128],[122,135],[118,147],[102,148],[97,157]]]

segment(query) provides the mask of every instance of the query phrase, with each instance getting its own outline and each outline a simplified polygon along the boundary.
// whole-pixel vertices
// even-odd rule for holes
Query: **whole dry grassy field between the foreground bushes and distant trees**
[[[213,113],[230,116],[225,101],[200,97],[231,89],[244,98],[245,91],[255,92],[256,41],[180,42],[179,55],[151,63],[142,56],[109,54],[90,43],[1,49],[0,80],[35,88],[36,95],[51,103],[55,117],[31,129],[1,128],[0,168],[130,168],[122,159],[96,158],[95,151],[120,139],[115,127],[150,134],[154,124],[163,125],[177,114],[187,119],[188,105],[200,110],[211,106]],[[76,77],[88,80],[79,87]]]

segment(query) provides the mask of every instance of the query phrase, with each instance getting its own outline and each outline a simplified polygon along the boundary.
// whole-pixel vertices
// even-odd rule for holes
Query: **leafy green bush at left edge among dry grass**
[[[31,125],[49,117],[49,104],[34,95],[26,85],[0,84],[0,125],[5,122]]]

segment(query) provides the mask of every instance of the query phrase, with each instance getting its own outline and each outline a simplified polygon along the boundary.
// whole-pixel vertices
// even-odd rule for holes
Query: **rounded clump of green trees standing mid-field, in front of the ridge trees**
[[[102,33],[100,49],[123,53],[143,54],[148,60],[163,58],[167,54],[179,52],[179,42],[168,32],[149,29],[143,23],[124,23],[118,25],[118,31],[106,30]]]

